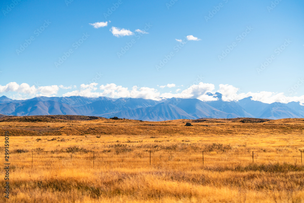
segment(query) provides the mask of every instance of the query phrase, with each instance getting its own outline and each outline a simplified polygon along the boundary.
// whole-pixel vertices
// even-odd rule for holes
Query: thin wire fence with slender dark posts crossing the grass
[[[2,157],[2,160],[5,160]],[[3,161],[3,163],[5,163]],[[129,151],[64,152],[12,151],[9,164],[36,166],[166,166],[166,165],[244,165],[250,163],[302,164],[302,151]]]

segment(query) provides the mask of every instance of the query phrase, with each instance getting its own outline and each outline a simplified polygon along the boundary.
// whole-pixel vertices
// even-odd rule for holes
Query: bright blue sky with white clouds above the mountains
[[[0,6],[0,95],[304,102],[303,1]]]

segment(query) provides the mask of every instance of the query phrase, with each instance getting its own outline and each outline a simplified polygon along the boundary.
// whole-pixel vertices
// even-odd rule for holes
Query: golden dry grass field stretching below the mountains
[[[304,119],[90,119],[0,118],[0,201],[304,202]]]

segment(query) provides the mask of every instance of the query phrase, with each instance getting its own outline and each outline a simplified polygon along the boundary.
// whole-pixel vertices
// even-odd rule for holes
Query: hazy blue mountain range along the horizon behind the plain
[[[35,97],[12,100],[0,97],[0,115],[85,115],[119,117],[143,121],[165,121],[198,118],[255,117],[268,119],[302,118],[304,106],[299,102],[263,103],[247,97],[239,101],[223,101],[222,94],[209,93],[215,101],[171,98],[160,101],[142,98],[109,97]],[[1,115],[2,116],[2,115]]]

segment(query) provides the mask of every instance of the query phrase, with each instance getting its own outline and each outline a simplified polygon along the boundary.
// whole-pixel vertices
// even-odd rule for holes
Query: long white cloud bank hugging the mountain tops
[[[164,89],[165,87],[168,88],[168,91]],[[59,91],[64,93],[59,95]],[[212,96],[212,94],[216,92],[222,94],[222,100],[224,101],[237,101],[252,96],[252,100],[261,101],[264,103],[288,103],[292,101],[304,103],[304,95],[286,96],[284,93],[266,91],[243,93],[239,88],[229,84],[220,84],[216,88],[214,84],[203,82],[193,84],[186,89],[181,89],[181,86],[176,86],[174,83],[158,86],[157,88],[138,86],[127,88],[118,86],[114,83],[99,85],[98,83],[93,82],[90,84],[81,84],[78,89],[76,86],[51,85],[37,87],[30,86],[27,83],[22,83],[19,85],[16,82],[10,82],[4,86],[0,85],[0,94],[13,95],[12,98],[14,99],[32,98],[34,96],[107,96],[112,98],[131,97],[151,100],[162,100],[164,98],[175,97],[196,98],[202,101],[212,101],[217,100],[216,97]]]

